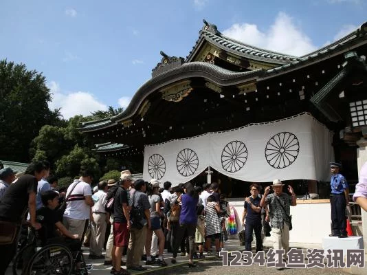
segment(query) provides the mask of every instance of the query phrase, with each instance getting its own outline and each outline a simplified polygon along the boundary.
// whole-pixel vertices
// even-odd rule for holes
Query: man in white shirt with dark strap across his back
[[[94,206],[91,198],[92,181],[93,174],[91,171],[85,170],[79,179],[70,184],[66,192],[67,206],[63,223],[71,234],[78,234],[80,239],[84,238],[89,218],[93,219],[91,216],[91,207]],[[74,188],[73,192],[71,192],[72,188]]]

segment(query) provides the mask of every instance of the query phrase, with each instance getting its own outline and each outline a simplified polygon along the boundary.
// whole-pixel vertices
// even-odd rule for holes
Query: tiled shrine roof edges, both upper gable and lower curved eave
[[[269,78],[273,78],[279,74],[287,74],[296,69],[314,65],[315,63],[326,61],[333,56],[345,54],[361,45],[367,44],[367,23],[364,23],[360,28],[344,36],[342,39],[322,47],[310,54],[296,57],[285,54],[279,54],[267,50],[262,50],[257,47],[245,45],[234,39],[223,36],[216,26],[208,22],[204,22],[203,30],[200,32],[199,40],[193,47],[186,58],[186,63],[168,69],[148,80],[142,87],[140,87],[133,96],[129,106],[118,115],[104,120],[97,120],[92,122],[83,122],[80,128],[83,132],[96,131],[99,129],[108,128],[111,125],[118,124],[118,122],[130,120],[133,115],[137,113],[143,104],[144,100],[154,93],[173,83],[190,78],[203,78],[209,80],[211,83],[219,87],[229,87],[236,85],[243,85],[246,83],[261,83]],[[278,64],[277,67],[271,69],[254,69],[247,72],[232,72],[228,69],[223,69],[214,64],[192,61],[195,54],[202,47],[203,43],[208,41],[221,49],[236,54],[238,56],[256,59],[261,62],[268,62]]]

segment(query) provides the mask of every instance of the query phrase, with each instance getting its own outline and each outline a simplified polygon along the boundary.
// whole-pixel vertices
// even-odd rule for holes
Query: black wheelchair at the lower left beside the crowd
[[[76,266],[76,259],[79,259]],[[39,247],[34,230],[28,235],[27,245],[13,259],[13,275],[87,275],[93,265],[85,263],[82,251],[73,256],[66,245],[54,243]]]

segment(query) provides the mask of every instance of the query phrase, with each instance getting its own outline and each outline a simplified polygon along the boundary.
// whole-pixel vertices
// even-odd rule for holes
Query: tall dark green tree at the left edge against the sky
[[[56,124],[45,77],[24,64],[0,61],[0,159],[28,162],[30,143],[45,124]]]

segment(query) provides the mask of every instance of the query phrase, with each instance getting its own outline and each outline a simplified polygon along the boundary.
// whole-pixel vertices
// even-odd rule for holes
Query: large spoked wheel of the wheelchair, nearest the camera
[[[74,271],[74,259],[65,245],[50,244],[38,250],[27,267],[30,275],[69,275]]]

